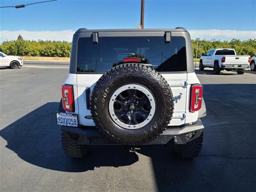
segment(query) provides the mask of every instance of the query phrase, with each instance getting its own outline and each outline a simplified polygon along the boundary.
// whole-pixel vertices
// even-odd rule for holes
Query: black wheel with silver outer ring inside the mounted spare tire
[[[152,120],[155,111],[154,96],[139,84],[121,86],[109,100],[109,115],[115,124],[125,129],[144,127]]]

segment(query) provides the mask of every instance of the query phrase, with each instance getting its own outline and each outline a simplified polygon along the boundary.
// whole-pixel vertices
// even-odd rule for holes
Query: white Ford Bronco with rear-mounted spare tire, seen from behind
[[[62,147],[84,157],[90,145],[173,144],[198,156],[206,115],[191,39],[176,29],[79,29],[57,113]]]

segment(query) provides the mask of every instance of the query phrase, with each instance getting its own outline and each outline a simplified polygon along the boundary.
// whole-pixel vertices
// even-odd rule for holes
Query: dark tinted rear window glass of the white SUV
[[[106,72],[120,65],[124,58],[140,58],[141,63],[159,72],[186,71],[186,42],[183,37],[99,37],[79,38],[77,72]]]

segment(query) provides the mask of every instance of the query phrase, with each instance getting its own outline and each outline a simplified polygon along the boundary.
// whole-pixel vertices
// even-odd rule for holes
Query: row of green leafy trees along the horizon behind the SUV
[[[233,48],[237,54],[250,55],[256,54],[256,38],[249,40],[230,41],[220,40],[192,40],[193,56],[196,58],[196,44],[198,44],[197,58],[202,53],[215,48]],[[47,56],[47,57],[70,57],[71,43],[65,41],[43,41],[43,40],[24,40],[18,36],[17,40],[5,41],[0,45],[0,51],[8,55],[17,56]]]

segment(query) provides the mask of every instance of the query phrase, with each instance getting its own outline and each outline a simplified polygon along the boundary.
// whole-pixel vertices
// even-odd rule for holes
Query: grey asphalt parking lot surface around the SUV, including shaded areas
[[[0,191],[256,190],[256,72],[196,71],[207,107],[196,159],[154,146],[95,147],[73,160],[55,120],[67,65],[31,66],[0,70]]]

